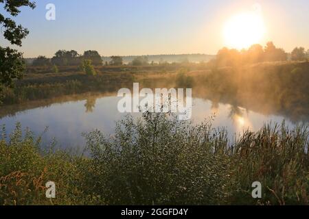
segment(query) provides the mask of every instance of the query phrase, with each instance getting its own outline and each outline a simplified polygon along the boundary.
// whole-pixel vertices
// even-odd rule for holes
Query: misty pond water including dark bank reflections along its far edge
[[[275,124],[286,120],[288,127],[301,123],[292,122],[287,116],[263,114],[262,109],[258,112],[198,96],[193,94],[192,123],[201,123],[206,119],[211,121],[214,129],[225,127],[231,142],[248,129],[258,131],[264,123]],[[82,133],[98,129],[106,136],[113,135],[115,122],[128,115],[118,112],[120,99],[116,92],[88,93],[34,102],[24,108],[17,105],[2,107],[0,125],[5,125],[6,132],[11,133],[16,123],[21,123],[23,129],[29,127],[36,136],[48,127],[48,131],[43,133],[43,145],[55,139],[57,147],[62,149],[83,149],[85,140]],[[135,119],[141,116],[140,113],[129,115]]]

